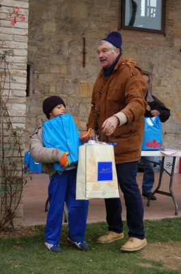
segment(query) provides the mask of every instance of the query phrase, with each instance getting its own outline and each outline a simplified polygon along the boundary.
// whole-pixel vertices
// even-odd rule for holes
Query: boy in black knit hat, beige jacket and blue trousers
[[[42,109],[47,119],[51,120],[66,113],[66,105],[58,96],[51,96],[43,101]],[[49,251],[61,252],[59,240],[61,234],[64,203],[68,207],[67,241],[79,250],[87,250],[84,241],[89,201],[76,200],[76,166],[69,165],[66,153],[56,148],[46,148],[42,142],[43,125],[38,127],[31,137],[30,153],[36,162],[42,162],[44,173],[50,177],[48,186],[49,209],[46,219],[44,246]],[[55,171],[53,163],[59,162],[63,172]]]

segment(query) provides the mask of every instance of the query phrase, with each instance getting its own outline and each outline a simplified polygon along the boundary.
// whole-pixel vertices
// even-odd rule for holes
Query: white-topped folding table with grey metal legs
[[[147,150],[147,151],[141,151],[141,156],[157,156],[157,157],[162,157],[162,162],[161,164],[157,163],[157,162],[153,162],[156,165],[161,166],[161,171],[160,171],[160,175],[159,175],[159,180],[158,180],[158,186],[156,187],[156,189],[154,190],[154,192],[152,192],[152,195],[150,195],[150,197],[148,198],[148,203],[147,206],[150,206],[150,200],[152,199],[153,195],[155,193],[158,194],[162,194],[162,195],[166,195],[166,196],[170,196],[173,199],[173,202],[175,204],[176,207],[176,212],[175,215],[178,215],[178,204],[176,202],[176,198],[173,195],[173,191],[172,191],[172,184],[173,184],[173,174],[174,174],[174,169],[175,169],[175,164],[176,164],[176,157],[181,157],[181,151],[178,149],[163,149],[163,150],[157,150],[157,151],[153,151],[153,150]],[[171,166],[171,173],[169,173],[166,169],[164,169],[164,161],[165,161],[165,157],[172,157],[172,166]],[[141,159],[142,160],[142,159]],[[145,160],[144,160],[145,161]],[[147,162],[152,162],[149,160],[146,160]],[[169,177],[170,177],[170,181],[169,181],[169,192],[165,192],[165,191],[161,191],[159,190],[159,188],[161,187],[161,182],[162,182],[162,175],[163,172],[166,172]]]

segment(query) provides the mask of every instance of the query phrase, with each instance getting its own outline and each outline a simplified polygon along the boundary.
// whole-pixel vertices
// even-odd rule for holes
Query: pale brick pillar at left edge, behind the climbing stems
[[[5,85],[5,88],[3,88],[3,96],[7,98],[8,92],[10,91],[10,97],[8,99],[7,106],[8,113],[10,114],[10,119],[12,121],[12,127],[16,128],[17,126],[25,129],[25,90],[27,82],[27,33],[29,5],[28,0],[1,0],[0,4],[0,41],[1,44],[3,41],[5,41],[5,45],[3,46],[4,51],[6,49],[14,51],[14,57],[7,58],[8,69],[10,72],[10,90],[9,86]],[[13,12],[16,6],[20,8],[22,14],[25,14],[25,21],[21,22],[20,20],[17,20],[16,25],[12,26],[10,23],[10,18],[7,18],[7,14],[9,12]],[[3,71],[3,64],[1,64],[0,66],[0,71]],[[8,81],[8,79],[6,80],[6,82]],[[5,129],[7,128],[5,127]],[[9,134],[9,131],[7,132]],[[23,197],[20,199],[18,210],[16,210],[16,218],[13,222],[14,225],[21,225],[23,222]]]

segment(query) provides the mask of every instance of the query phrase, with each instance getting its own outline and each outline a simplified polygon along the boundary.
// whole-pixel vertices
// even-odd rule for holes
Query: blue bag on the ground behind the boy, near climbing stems
[[[33,160],[29,151],[25,153],[24,160],[25,160],[25,166],[23,169],[24,172],[26,173],[31,172],[34,174],[43,173],[42,163],[37,163],[35,160]]]

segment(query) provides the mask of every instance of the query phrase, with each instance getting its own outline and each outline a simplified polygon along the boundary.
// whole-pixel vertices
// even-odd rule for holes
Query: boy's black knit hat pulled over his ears
[[[64,100],[61,99],[59,96],[51,96],[43,101],[43,112],[46,115],[46,117],[49,119],[49,113],[55,108],[57,105],[64,105],[66,108],[66,104],[64,103]]]

